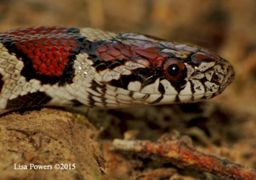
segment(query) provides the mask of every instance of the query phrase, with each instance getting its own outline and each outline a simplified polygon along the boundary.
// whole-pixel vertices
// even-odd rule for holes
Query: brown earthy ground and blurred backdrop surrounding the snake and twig
[[[19,160],[17,163],[30,162],[35,160],[33,157],[36,157],[38,162],[79,164],[77,169],[79,173],[68,171],[67,177],[79,174],[81,175],[79,177],[86,179],[86,175],[89,174],[97,179],[101,174],[102,179],[152,179],[152,177],[155,179],[220,179],[207,173],[181,170],[171,164],[122,156],[109,150],[112,140],[122,139],[124,134],[126,138],[131,139],[156,140],[163,133],[174,129],[182,135],[191,137],[197,150],[256,169],[255,13],[256,5],[253,0],[246,2],[195,0],[190,3],[146,0],[0,1],[0,31],[24,26],[61,25],[94,27],[119,32],[141,32],[207,47],[229,60],[236,70],[234,83],[222,95],[207,103],[181,107],[175,105],[122,110],[90,110],[84,113],[99,129],[97,133],[103,145],[102,151],[93,150],[93,155],[89,147],[85,148],[88,144],[98,148],[98,141],[89,138],[90,129],[93,128],[88,125],[84,127],[72,120],[74,115],[58,110],[43,110],[28,112],[26,115],[3,116],[0,119],[2,125],[0,147],[1,152],[4,152],[0,156],[1,174],[16,173],[16,177],[22,179],[24,172],[11,170],[10,163],[14,163],[15,160]],[[52,127],[44,126],[46,122],[52,123]],[[60,124],[63,128],[60,128]],[[78,133],[76,137],[85,136],[83,142],[78,137],[74,138],[70,130],[71,124],[80,127],[73,133]],[[20,129],[22,132],[9,130],[10,127]],[[69,130],[65,131],[64,127]],[[35,136],[37,139],[39,135],[29,134],[28,136],[23,132],[23,130],[38,132],[38,129],[42,130],[39,135],[43,139],[47,135],[58,140],[47,145],[49,148],[57,145],[57,148],[51,149],[50,152],[68,155],[60,158],[54,153],[51,156],[46,156],[42,153],[43,151],[38,154],[38,150],[31,146],[27,137]],[[20,136],[18,140],[23,142],[22,146],[17,143],[17,139],[14,138],[16,136]],[[64,148],[58,144],[59,141],[63,142]],[[85,146],[80,149],[81,144]],[[10,148],[12,145],[13,148]],[[85,152],[86,156],[81,152],[76,154],[77,150],[74,150],[74,147]],[[26,155],[27,152],[33,153]],[[101,165],[101,158],[98,158],[102,157],[102,152],[106,161],[105,166]],[[84,169],[85,166],[89,168]],[[50,175],[56,175],[56,173],[49,171]],[[33,171],[32,174],[30,177],[40,172]],[[64,174],[59,173],[56,177],[58,175]]]

